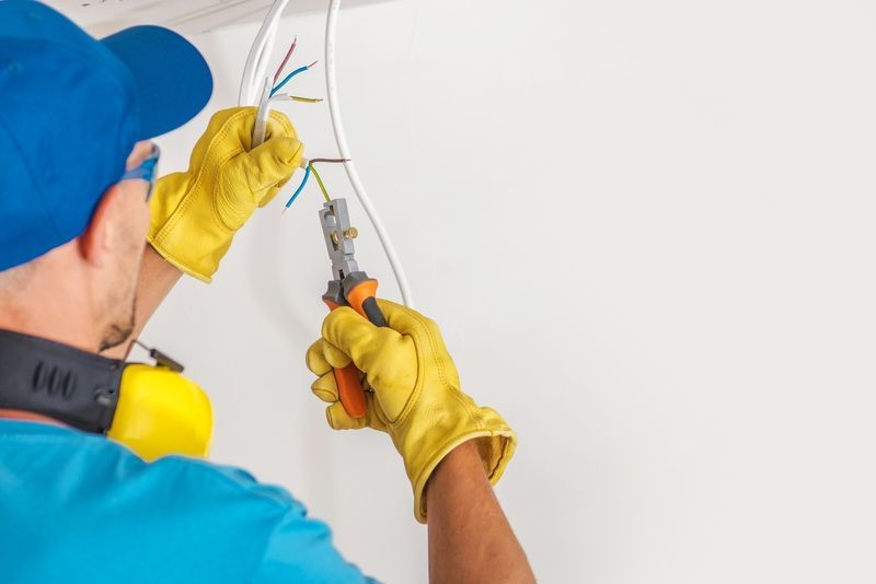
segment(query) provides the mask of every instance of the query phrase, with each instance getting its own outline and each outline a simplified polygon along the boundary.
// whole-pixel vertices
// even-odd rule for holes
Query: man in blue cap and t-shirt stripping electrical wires
[[[237,108],[214,116],[188,171],[153,188],[149,138],[185,124],[210,92],[203,58],[170,31],[96,42],[37,2],[0,1],[2,582],[368,581],[286,491],[203,459],[147,462],[62,409],[95,371],[118,378],[113,358],[174,282],[209,281],[234,233],[300,165],[287,118],[275,115],[251,150],[255,110]],[[431,580],[531,582],[489,484],[514,432],[461,393],[434,323],[381,308],[389,328],[336,311],[307,353],[328,423],[392,439],[415,516],[428,521]],[[358,419],[332,374],[350,362],[369,388]],[[128,387],[123,377],[85,407],[120,404]],[[20,406],[37,402],[59,413]]]

